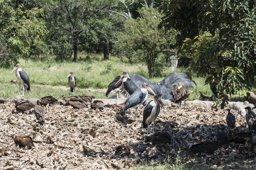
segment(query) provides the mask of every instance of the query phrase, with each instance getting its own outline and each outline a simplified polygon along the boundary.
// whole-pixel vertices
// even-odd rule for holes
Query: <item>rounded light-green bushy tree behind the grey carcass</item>
[[[122,49],[123,54],[132,55],[135,60],[146,62],[149,77],[152,77],[157,69],[157,58],[164,51],[169,37],[163,28],[158,29],[163,17],[161,13],[148,7],[143,7],[139,12],[140,17],[125,21],[124,31],[118,35],[117,46],[119,50]]]

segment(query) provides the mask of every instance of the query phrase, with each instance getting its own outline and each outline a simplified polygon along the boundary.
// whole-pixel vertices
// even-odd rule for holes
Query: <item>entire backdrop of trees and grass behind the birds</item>
[[[255,85],[253,0],[0,0],[0,21],[3,72],[17,62],[23,68],[57,66],[51,78],[45,70],[40,77],[28,70],[37,85],[65,85],[58,78],[70,69],[82,77],[80,87],[106,88],[126,67],[160,80],[170,73],[172,55],[200,79],[197,85],[215,86],[220,97]],[[114,60],[102,61],[110,54]]]

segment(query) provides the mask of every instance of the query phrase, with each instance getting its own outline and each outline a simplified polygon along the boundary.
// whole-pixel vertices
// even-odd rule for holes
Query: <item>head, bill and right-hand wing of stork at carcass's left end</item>
[[[120,82],[122,82],[124,86],[124,89],[122,89],[121,91],[125,90],[129,95],[134,93],[139,88],[130,78],[128,78],[127,75],[123,75],[123,77],[120,78],[116,85],[119,85]]]

